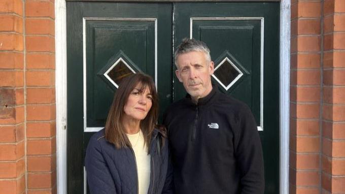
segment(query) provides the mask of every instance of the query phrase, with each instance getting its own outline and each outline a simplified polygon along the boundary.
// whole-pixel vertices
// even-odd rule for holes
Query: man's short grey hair
[[[177,47],[175,51],[175,65],[177,68],[179,68],[177,64],[177,58],[179,57],[179,55],[192,51],[205,53],[206,60],[211,62],[210,49],[204,42],[197,41],[195,39],[184,38],[182,40],[182,43]]]

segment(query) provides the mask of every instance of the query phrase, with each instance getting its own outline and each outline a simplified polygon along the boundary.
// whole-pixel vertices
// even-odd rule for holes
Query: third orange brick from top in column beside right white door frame
[[[302,36],[297,38],[300,52],[317,52],[320,51],[321,39],[319,36]]]

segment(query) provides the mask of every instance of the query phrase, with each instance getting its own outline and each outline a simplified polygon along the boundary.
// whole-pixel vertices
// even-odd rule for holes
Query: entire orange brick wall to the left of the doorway
[[[56,193],[54,1],[0,1],[0,193]]]

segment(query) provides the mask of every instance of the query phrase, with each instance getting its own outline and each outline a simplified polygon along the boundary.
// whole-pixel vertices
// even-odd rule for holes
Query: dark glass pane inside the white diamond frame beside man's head
[[[225,60],[220,64],[220,67],[214,72],[214,75],[219,79],[222,84],[228,86],[238,75],[239,72],[232,67],[229,61]]]

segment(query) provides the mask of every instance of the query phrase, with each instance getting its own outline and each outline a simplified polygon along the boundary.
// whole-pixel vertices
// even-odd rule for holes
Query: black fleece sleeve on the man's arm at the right
[[[262,146],[256,121],[248,106],[240,110],[237,126],[234,143],[241,193],[261,194],[265,188]]]

